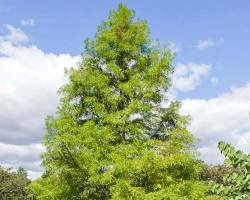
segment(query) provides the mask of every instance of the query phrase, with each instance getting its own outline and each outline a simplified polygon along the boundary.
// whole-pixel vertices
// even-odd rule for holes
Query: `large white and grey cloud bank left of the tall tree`
[[[27,45],[20,29],[5,25],[0,36],[0,165],[25,167],[40,174],[44,118],[58,105],[58,88],[65,83],[65,67],[79,57],[45,53]]]

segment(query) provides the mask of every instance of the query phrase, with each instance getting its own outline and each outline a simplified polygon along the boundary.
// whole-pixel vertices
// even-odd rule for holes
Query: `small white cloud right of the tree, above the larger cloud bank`
[[[172,87],[178,91],[191,91],[195,89],[201,78],[208,76],[211,66],[207,64],[178,64],[172,77]]]

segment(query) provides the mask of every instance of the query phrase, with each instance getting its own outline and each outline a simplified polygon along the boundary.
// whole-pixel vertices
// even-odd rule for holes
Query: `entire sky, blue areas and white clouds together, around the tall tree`
[[[0,164],[41,172],[43,119],[55,111],[63,68],[119,2],[0,1]],[[219,162],[220,139],[250,150],[250,1],[122,2],[176,51],[171,95],[193,117],[202,158]]]

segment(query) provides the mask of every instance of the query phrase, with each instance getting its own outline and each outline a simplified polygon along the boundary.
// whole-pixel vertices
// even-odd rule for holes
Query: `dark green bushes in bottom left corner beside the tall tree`
[[[0,167],[0,200],[28,200],[26,186],[30,183],[27,172],[19,168],[17,172]]]

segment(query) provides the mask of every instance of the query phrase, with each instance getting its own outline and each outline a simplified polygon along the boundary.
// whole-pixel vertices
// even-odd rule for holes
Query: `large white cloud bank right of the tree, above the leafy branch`
[[[200,139],[201,157],[209,163],[222,161],[217,143],[224,140],[250,152],[250,83],[232,88],[212,99],[186,99],[182,113],[193,118],[190,130]]]

